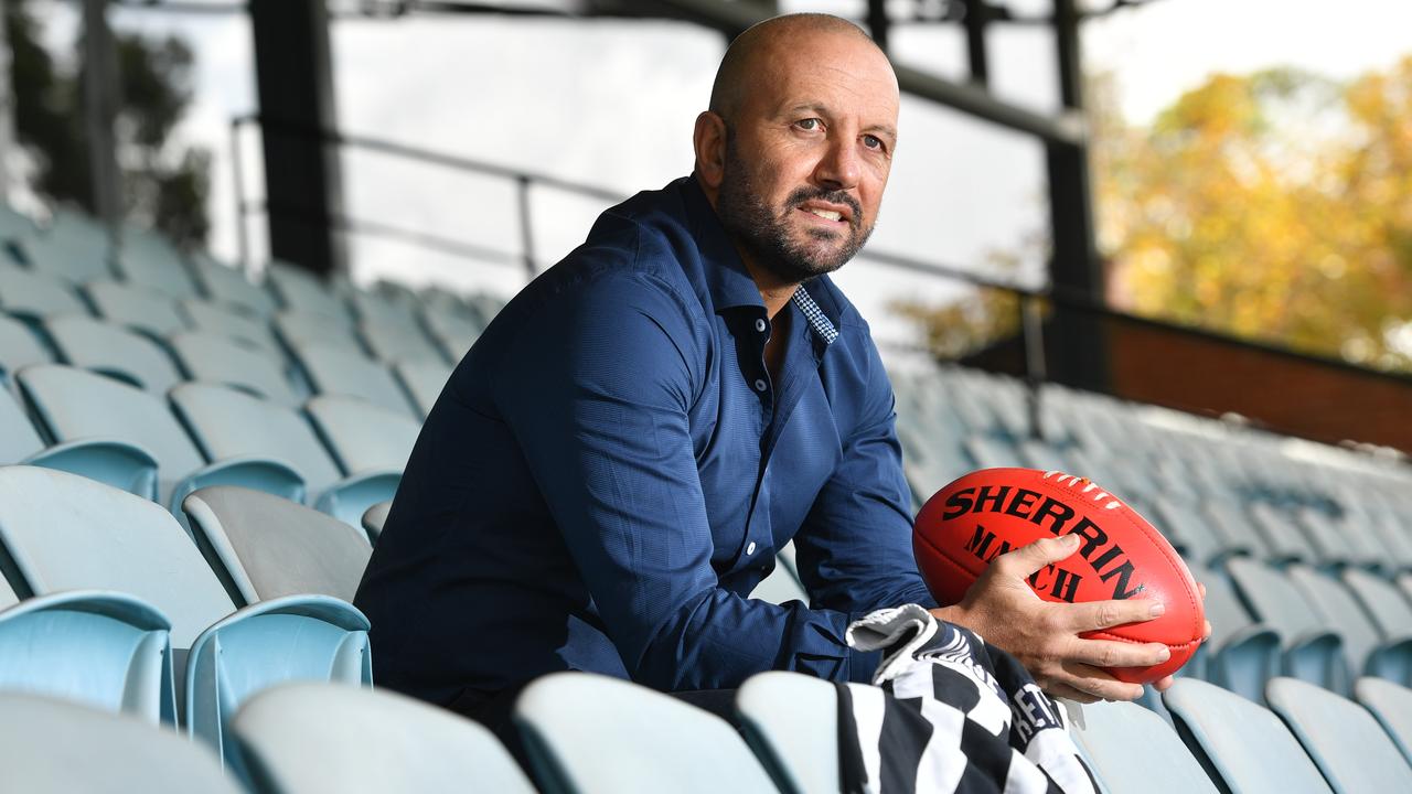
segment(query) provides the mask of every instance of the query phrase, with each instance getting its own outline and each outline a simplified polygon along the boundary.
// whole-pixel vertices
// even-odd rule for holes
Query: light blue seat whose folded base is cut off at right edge
[[[1308,565],[1292,565],[1286,574],[1305,593],[1323,624],[1343,637],[1350,674],[1412,684],[1412,636],[1384,636],[1339,579]]]

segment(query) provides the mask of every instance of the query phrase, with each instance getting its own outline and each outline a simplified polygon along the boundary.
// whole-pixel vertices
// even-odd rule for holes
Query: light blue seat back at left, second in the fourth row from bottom
[[[158,397],[181,381],[167,350],[140,333],[80,315],[51,316],[44,329],[65,363],[116,377]]]

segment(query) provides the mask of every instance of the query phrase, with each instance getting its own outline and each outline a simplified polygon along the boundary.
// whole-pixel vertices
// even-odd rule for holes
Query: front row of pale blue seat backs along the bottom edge
[[[1412,790],[1412,689],[1363,680],[1357,702],[1292,678],[1271,708],[1202,681],[1165,695],[1176,728],[1131,704],[1069,705],[1101,791],[1364,793]],[[764,672],[717,716],[642,687],[561,672],[531,684],[514,721],[521,770],[484,728],[385,692],[285,684],[243,704],[229,730],[247,774],[161,729],[75,704],[0,694],[7,780],[27,791],[635,794],[842,790],[834,685]],[[55,736],[64,736],[55,742]],[[369,740],[376,736],[376,740]],[[71,762],[71,763],[65,763]],[[532,783],[531,783],[532,780]]]

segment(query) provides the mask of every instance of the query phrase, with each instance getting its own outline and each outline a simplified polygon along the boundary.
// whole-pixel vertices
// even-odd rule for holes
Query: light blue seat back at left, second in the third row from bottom
[[[202,466],[201,454],[167,404],[140,389],[62,365],[25,367],[18,381],[55,439],[110,438],[151,454],[162,503],[176,480]]]

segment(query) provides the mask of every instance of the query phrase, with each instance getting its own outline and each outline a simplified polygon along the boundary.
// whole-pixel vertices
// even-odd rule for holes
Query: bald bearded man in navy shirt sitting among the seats
[[[892,391],[827,278],[867,240],[898,86],[853,24],[781,17],[730,47],[696,168],[600,216],[496,318],[408,462],[357,595],[377,680],[487,721],[555,670],[714,691],[764,670],[867,681],[850,620],[935,606],[911,551]],[[938,483],[940,485],[940,483]],[[794,540],[812,605],[753,600]],[[1080,640],[1141,602],[1051,605],[1005,555],[939,616],[1056,694],[1131,699]]]

